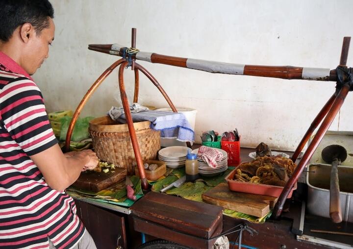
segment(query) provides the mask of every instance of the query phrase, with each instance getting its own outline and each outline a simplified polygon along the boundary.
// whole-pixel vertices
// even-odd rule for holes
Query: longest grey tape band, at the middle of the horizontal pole
[[[243,75],[245,65],[218,62],[218,61],[187,59],[186,67],[191,69],[196,69],[196,70],[202,70],[210,73]]]

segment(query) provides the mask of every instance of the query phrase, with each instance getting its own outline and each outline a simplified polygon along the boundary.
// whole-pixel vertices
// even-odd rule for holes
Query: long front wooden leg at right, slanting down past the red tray
[[[298,164],[297,168],[294,170],[292,176],[287,181],[286,185],[284,186],[282,193],[280,194],[278,201],[276,203],[273,215],[277,219],[283,210],[283,205],[285,200],[288,197],[289,192],[293,188],[294,184],[298,181],[300,174],[303,172],[304,167],[310,160],[311,156],[313,155],[315,149],[318,147],[319,143],[323,139],[328,127],[331,125],[332,121],[336,117],[336,114],[340,110],[348,92],[350,90],[350,86],[348,84],[344,85],[339,92],[336,99],[333,101],[328,114],[326,115],[323,123],[320,125],[319,130],[317,131],[316,135],[314,136],[312,142],[310,143],[308,149],[306,149],[303,158],[301,159],[300,163]]]

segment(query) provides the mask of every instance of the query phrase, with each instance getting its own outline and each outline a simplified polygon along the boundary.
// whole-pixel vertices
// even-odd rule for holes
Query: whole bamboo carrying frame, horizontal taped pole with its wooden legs
[[[349,45],[350,45],[351,37],[344,37],[343,46],[341,51],[341,58],[340,58],[340,66],[346,66]],[[136,45],[136,29],[133,28],[131,32],[131,47],[135,48]],[[99,51],[111,55],[123,56],[125,53],[124,47],[117,45],[117,44],[107,44],[107,45],[89,45],[89,50]],[[337,81],[337,72],[336,69],[329,70],[329,69],[317,69],[317,68],[302,68],[302,67],[292,67],[292,66],[260,66],[260,65],[240,65],[240,64],[231,64],[231,63],[222,63],[222,62],[209,62],[203,60],[194,60],[188,58],[181,58],[175,56],[167,56],[167,55],[160,55],[156,53],[148,53],[148,52],[137,52],[135,54],[130,55],[132,58],[131,63],[131,70],[134,70],[135,73],[135,91],[134,91],[134,98],[133,101],[138,101],[138,94],[139,94],[139,73],[141,71],[144,75],[146,75],[151,82],[157,87],[157,89],[162,93],[163,97],[167,100],[169,106],[172,108],[174,112],[177,112],[176,107],[174,106],[173,102],[170,100],[167,93],[164,89],[160,86],[158,81],[148,72],[144,67],[140,64],[136,63],[136,59],[149,61],[151,63],[159,63],[159,64],[166,64],[171,66],[177,67],[184,67],[196,70],[207,71],[210,73],[222,73],[222,74],[233,74],[233,75],[252,75],[252,76],[261,76],[261,77],[275,77],[275,78],[283,78],[283,79],[307,79],[307,80],[318,80],[318,81]],[[126,58],[122,58],[111,65],[92,85],[92,87],[88,90],[86,95],[81,100],[80,104],[78,105],[74,117],[71,121],[71,124],[68,129],[67,137],[66,137],[66,150],[69,149],[70,146],[70,139],[73,131],[73,127],[76,123],[77,117],[83,108],[83,105],[86,101],[90,98],[93,92],[97,89],[97,87],[101,84],[101,82],[108,76],[112,70],[114,70],[118,65],[119,68],[119,88],[121,93],[121,98],[123,101],[124,111],[126,113],[126,123],[129,128],[129,133],[131,137],[132,146],[135,153],[135,158],[137,161],[137,166],[139,169],[139,174],[141,176],[141,182],[143,189],[148,188],[148,182],[146,179],[145,170],[143,167],[143,162],[141,158],[141,153],[138,147],[136,133],[133,128],[131,112],[129,110],[129,103],[127,100],[126,92],[125,92],[125,85],[124,85],[124,68],[127,65]],[[295,150],[292,160],[296,161],[298,155],[303,150],[304,145],[314,132],[314,130],[320,125],[316,135],[314,136],[312,142],[306,149],[303,157],[298,164],[297,168],[293,172],[290,179],[287,181],[285,187],[283,188],[281,195],[277,201],[275,206],[273,216],[278,218],[283,210],[283,205],[285,200],[287,199],[290,190],[293,188],[295,182],[297,182],[300,174],[303,172],[304,167],[310,160],[312,154],[314,153],[315,149],[318,147],[319,143],[321,142],[322,138],[324,137],[328,127],[331,125],[332,121],[334,120],[336,114],[340,110],[348,92],[352,90],[350,89],[350,85],[345,84],[341,88],[336,87],[335,93],[330,97],[318,115],[315,117],[314,121],[310,125],[309,129],[306,131],[303,139],[299,143],[297,149]],[[188,147],[190,143],[187,144]]]

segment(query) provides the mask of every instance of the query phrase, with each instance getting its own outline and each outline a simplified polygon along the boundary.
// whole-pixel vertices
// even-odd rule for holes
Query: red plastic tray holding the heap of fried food
[[[263,195],[263,196],[279,197],[280,193],[283,190],[283,187],[233,180],[236,170],[237,168],[235,168],[232,172],[230,172],[225,178],[226,181],[228,182],[228,187],[231,191]],[[289,195],[287,198],[291,198],[293,191],[296,189],[297,189],[297,183],[295,183],[294,187],[289,192]]]

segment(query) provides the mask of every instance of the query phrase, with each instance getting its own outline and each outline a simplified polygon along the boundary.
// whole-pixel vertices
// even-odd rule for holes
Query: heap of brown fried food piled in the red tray
[[[282,156],[260,156],[239,165],[234,180],[283,187],[293,174],[296,164]]]

